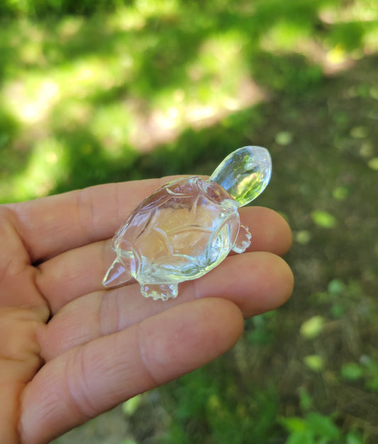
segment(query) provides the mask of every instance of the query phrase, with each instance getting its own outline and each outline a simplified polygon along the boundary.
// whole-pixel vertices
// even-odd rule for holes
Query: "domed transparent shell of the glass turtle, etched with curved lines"
[[[216,267],[239,228],[238,204],[223,187],[187,177],[145,199],[116,233],[114,249],[139,282],[182,282]]]

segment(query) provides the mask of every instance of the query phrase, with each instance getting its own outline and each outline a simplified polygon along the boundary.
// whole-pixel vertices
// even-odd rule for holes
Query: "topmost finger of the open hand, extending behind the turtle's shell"
[[[32,262],[110,238],[140,201],[176,177],[96,185],[7,205]]]

